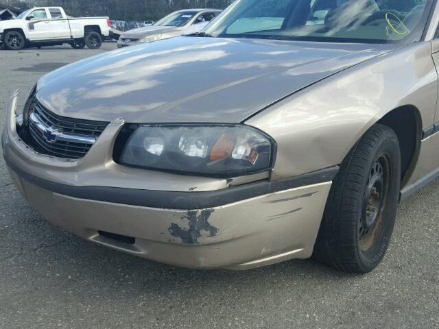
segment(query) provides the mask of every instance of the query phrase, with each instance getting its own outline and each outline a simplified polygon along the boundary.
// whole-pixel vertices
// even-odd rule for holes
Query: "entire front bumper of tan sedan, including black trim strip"
[[[249,269],[313,252],[336,169],[239,186],[164,174],[161,187],[161,173],[146,177],[108,156],[123,123],[111,123],[82,160],[67,162],[21,141],[15,106],[16,95],[1,138],[11,178],[45,219],[73,234],[191,268]],[[182,188],[189,182],[200,191]]]

